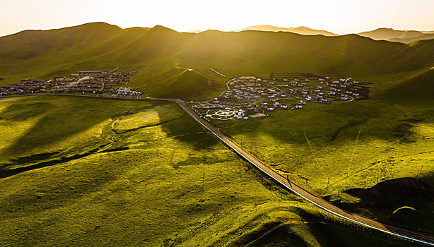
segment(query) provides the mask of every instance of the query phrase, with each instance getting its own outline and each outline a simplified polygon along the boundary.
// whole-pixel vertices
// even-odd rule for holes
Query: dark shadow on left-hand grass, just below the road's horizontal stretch
[[[34,163],[52,157],[57,157],[62,151],[49,149],[44,152],[44,147],[67,140],[78,133],[83,133],[93,126],[122,116],[130,107],[139,107],[143,102],[134,104],[112,104],[112,100],[89,99],[83,97],[56,97],[43,96],[38,98],[25,97],[9,105],[0,113],[0,119],[19,123],[20,121],[35,120],[30,128],[23,130],[20,137],[13,143],[1,150],[0,155],[4,157],[3,169],[13,164]],[[99,134],[96,134],[99,136]],[[92,140],[95,136],[89,136]],[[71,140],[74,147],[75,139]],[[98,142],[98,137],[95,138]],[[95,145],[99,145],[95,143]],[[66,147],[66,148],[68,148]],[[33,150],[40,148],[40,153]],[[76,147],[79,148],[79,147]],[[92,149],[92,147],[88,147]],[[87,147],[84,148],[85,151]]]

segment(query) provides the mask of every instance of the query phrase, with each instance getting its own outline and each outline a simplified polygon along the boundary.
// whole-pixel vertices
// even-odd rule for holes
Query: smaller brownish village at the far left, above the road
[[[118,84],[127,85],[135,71],[78,71],[70,77],[55,77],[49,80],[25,79],[20,83],[0,88],[0,96],[28,95],[35,93],[79,93],[110,95],[112,97],[139,97],[141,92],[131,91],[126,86],[112,89]]]

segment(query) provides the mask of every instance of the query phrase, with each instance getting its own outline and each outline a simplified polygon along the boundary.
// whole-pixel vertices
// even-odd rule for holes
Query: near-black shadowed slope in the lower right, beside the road
[[[433,235],[434,173],[420,179],[391,179],[371,188],[352,188],[344,193],[360,200],[354,205],[341,205],[343,207],[352,207],[353,211],[369,210],[380,222]]]

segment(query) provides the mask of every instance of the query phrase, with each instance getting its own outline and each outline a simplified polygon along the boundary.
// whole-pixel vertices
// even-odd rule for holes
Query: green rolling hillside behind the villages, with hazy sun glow
[[[433,44],[434,40],[400,44],[358,35],[292,32],[209,30],[194,34],[162,26],[123,30],[107,23],[88,23],[0,37],[0,78],[5,78],[0,85],[117,66],[138,71],[131,88],[159,97],[206,99],[218,95],[227,79],[210,68],[228,78],[297,71],[373,82],[381,78],[385,85],[433,67]],[[189,73],[174,78],[182,73],[179,68],[192,68],[200,74],[191,73],[194,83],[187,83]],[[177,86],[170,86],[173,83]]]

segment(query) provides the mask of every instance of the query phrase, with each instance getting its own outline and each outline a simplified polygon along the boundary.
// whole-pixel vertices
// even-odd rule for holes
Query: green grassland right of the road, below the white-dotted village
[[[414,206],[421,220],[399,225],[432,233],[432,191],[421,200],[394,198],[384,207],[343,192],[408,177],[434,189],[433,75],[428,71],[370,100],[309,103],[301,111],[278,110],[266,119],[218,127],[312,193],[391,224],[397,224],[389,217],[394,210]],[[377,196],[387,200],[395,193],[399,197],[392,191]]]

